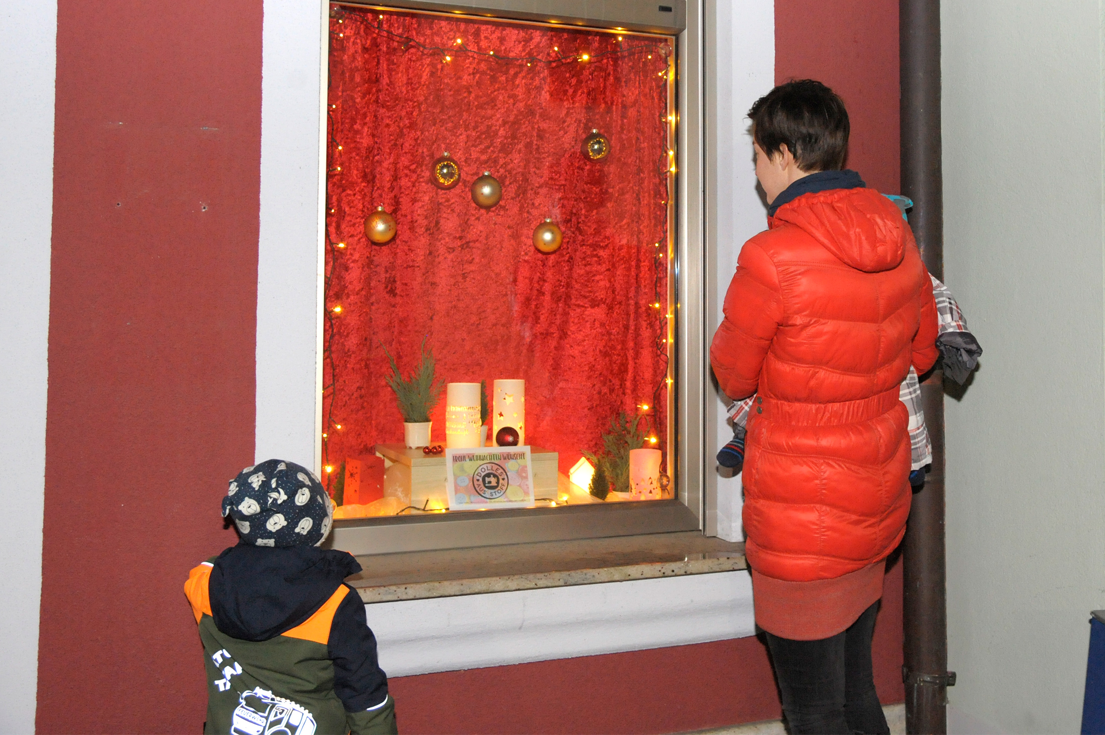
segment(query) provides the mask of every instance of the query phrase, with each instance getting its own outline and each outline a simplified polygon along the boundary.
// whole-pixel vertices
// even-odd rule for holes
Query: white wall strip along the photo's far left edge
[[[4,626],[0,732],[34,731],[46,462],[57,3],[0,6],[0,534]]]

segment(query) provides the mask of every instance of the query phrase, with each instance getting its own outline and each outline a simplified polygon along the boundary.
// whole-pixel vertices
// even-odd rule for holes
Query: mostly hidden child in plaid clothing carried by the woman
[[[893,198],[892,198],[893,199]],[[913,202],[911,202],[912,204]],[[982,355],[975,335],[967,328],[959,303],[948,287],[929,275],[933,280],[933,296],[936,298],[936,317],[939,336],[936,346],[944,361],[944,375],[959,385],[967,380],[978,358]],[[909,367],[909,375],[902,381],[898,397],[909,411],[909,449],[912,463],[909,468],[909,484],[919,487],[925,483],[925,468],[933,463],[933,442],[925,427],[925,412],[920,409],[920,380],[917,371]],[[747,433],[748,416],[751,412],[756,395],[734,401],[728,409],[733,422],[733,439],[717,453],[717,463],[723,468],[740,471],[745,462],[745,434]]]

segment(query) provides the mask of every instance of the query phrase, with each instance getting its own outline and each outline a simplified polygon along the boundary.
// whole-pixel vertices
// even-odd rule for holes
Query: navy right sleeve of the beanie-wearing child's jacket
[[[394,733],[394,700],[376,657],[376,637],[365,619],[365,603],[351,587],[334,613],[329,655],[334,662],[334,693],[346,710],[355,735]]]

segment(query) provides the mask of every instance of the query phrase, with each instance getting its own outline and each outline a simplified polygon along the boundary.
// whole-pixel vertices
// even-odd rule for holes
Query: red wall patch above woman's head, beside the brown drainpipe
[[[848,167],[897,193],[897,0],[776,0],[775,82],[814,78],[844,99]]]

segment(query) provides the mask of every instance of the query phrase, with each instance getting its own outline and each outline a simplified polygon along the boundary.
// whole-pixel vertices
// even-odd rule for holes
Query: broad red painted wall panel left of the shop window
[[[188,569],[253,461],[260,0],[57,9],[41,732],[198,732]]]

